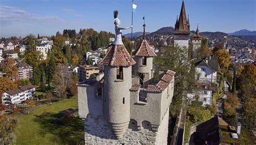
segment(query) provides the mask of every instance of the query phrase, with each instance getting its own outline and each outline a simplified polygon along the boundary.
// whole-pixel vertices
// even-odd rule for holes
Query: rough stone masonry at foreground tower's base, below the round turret
[[[127,129],[119,140],[114,138],[111,127],[103,120],[85,120],[85,144],[167,144],[168,119],[169,109],[161,121],[158,132],[153,133],[148,129]]]

